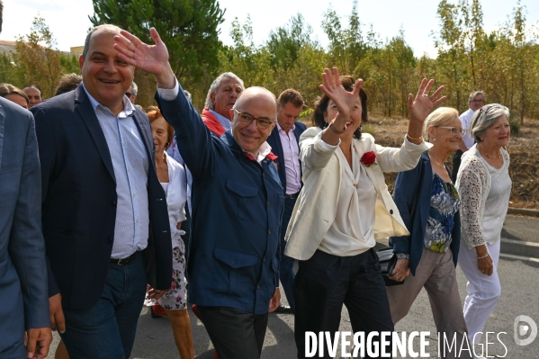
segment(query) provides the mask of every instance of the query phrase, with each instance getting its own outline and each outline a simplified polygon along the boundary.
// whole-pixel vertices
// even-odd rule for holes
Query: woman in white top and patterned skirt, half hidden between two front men
[[[185,298],[185,246],[181,235],[182,221],[185,220],[187,201],[186,177],[184,167],[166,155],[166,148],[172,143],[174,129],[165,121],[157,108],[150,108],[149,121],[156,146],[157,177],[166,193],[168,219],[173,247],[173,282],[157,301],[153,299],[157,291],[148,292],[145,304],[153,306],[156,302],[163,307],[170,319],[175,344],[182,359],[194,358],[191,321]],[[160,293],[159,293],[160,294]]]

